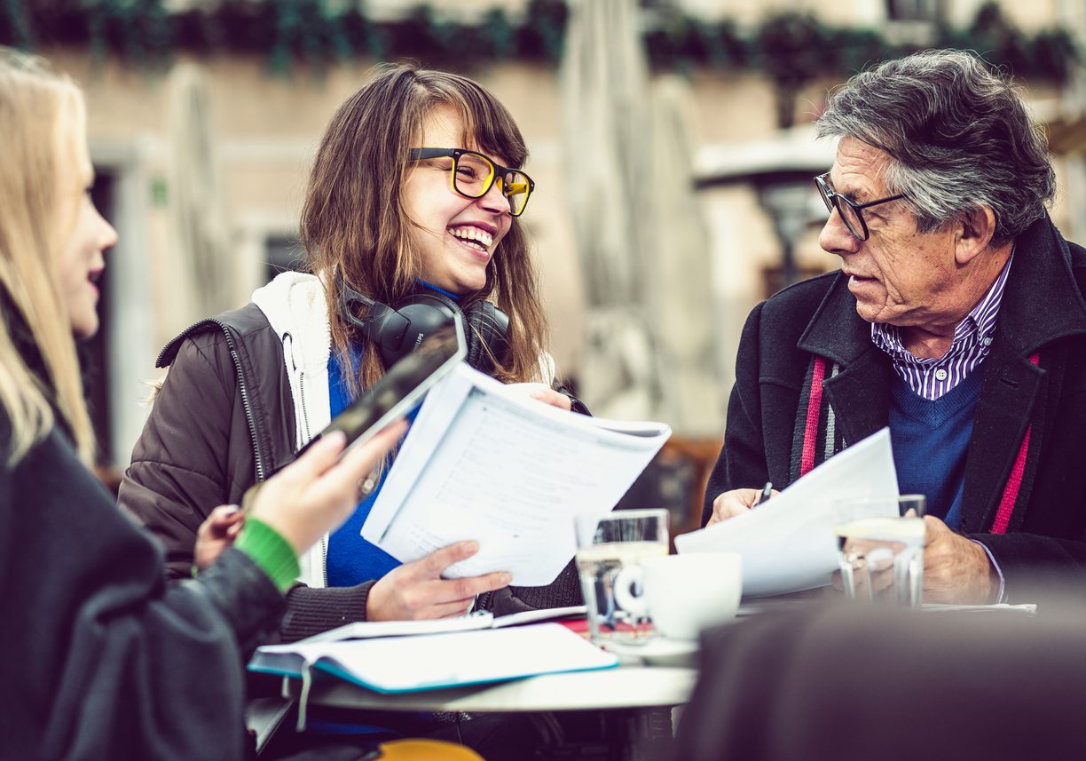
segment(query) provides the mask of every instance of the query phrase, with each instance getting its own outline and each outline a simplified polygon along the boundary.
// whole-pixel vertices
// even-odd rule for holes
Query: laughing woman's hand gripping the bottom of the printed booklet
[[[469,578],[441,577],[450,565],[478,551],[478,542],[458,541],[393,569],[369,590],[366,620],[447,619],[467,613],[476,595],[506,587],[513,579],[504,571]]]

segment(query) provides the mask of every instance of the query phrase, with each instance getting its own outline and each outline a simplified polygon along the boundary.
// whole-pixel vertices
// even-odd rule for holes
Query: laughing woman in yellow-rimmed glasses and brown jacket
[[[188,573],[206,504],[237,501],[384,373],[379,332],[365,308],[344,309],[344,296],[462,311],[480,370],[570,409],[555,388],[519,222],[534,187],[526,160],[505,107],[463,76],[380,66],[340,107],[302,211],[312,274],[280,275],[164,353],[172,367],[121,501],[163,539],[175,577]],[[303,560],[283,638],[350,621],[457,615],[477,596],[495,612],[580,602],[572,567],[530,589],[508,588],[502,573],[443,579],[473,542],[401,565],[359,536],[378,491]]]

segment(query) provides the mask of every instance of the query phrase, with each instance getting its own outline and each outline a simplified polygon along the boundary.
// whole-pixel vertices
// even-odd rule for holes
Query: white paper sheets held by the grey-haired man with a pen
[[[677,537],[675,549],[742,554],[744,597],[824,586],[837,570],[833,502],[897,495],[889,428],[883,428],[830,458],[763,504]]]

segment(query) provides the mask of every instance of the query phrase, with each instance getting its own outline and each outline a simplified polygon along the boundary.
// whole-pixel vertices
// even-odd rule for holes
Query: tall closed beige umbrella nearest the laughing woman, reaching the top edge
[[[657,416],[644,275],[653,237],[648,76],[633,0],[572,0],[561,64],[565,170],[585,277],[580,394],[596,414]]]

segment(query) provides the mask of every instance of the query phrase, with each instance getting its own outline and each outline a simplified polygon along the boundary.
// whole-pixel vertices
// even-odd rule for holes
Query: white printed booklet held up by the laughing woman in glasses
[[[573,557],[573,516],[610,511],[670,435],[566,412],[459,365],[427,395],[362,536],[405,563],[475,539],[479,552],[446,576],[508,571],[543,586]]]

